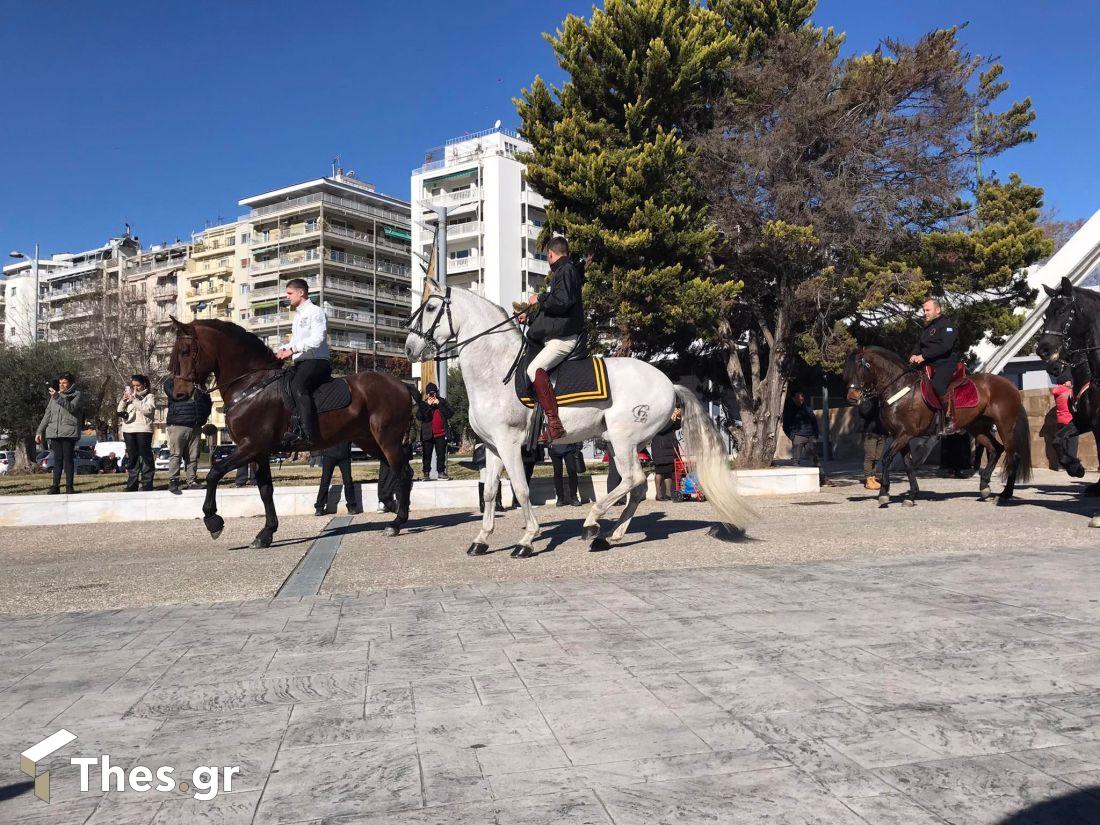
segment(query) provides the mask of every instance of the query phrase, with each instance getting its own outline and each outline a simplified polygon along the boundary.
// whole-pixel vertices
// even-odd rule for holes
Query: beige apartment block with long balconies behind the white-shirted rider
[[[331,177],[240,205],[250,209],[239,221],[244,249],[238,255],[249,258],[240,323],[277,348],[290,333],[286,282],[304,278],[311,299],[328,315],[338,367],[405,360],[403,323],[410,302],[406,201],[337,169]]]

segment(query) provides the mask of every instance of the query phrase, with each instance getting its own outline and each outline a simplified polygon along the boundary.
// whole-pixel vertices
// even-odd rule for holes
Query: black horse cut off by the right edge
[[[1091,432],[1100,450],[1100,295],[1075,287],[1063,278],[1057,287],[1043,287],[1049,296],[1043,316],[1043,332],[1035,342],[1035,354],[1048,369],[1074,373],[1074,424],[1080,432]],[[1085,488],[1085,495],[1100,495],[1100,482]],[[1100,527],[1100,516],[1093,517]]]

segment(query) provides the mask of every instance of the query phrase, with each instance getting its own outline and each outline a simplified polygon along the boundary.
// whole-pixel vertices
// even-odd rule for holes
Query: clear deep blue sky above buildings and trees
[[[230,219],[249,195],[327,174],[334,155],[408,197],[426,148],[501,118],[536,74],[540,33],[590,2],[224,3],[0,0],[0,254],[146,244]],[[1098,4],[1081,0],[823,0],[822,25],[871,48],[969,21],[1031,96],[1038,141],[996,162],[1066,219],[1100,208]]]

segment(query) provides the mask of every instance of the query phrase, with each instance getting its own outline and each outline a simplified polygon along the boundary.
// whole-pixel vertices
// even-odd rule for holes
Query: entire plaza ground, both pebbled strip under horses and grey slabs
[[[276,592],[321,519],[267,554],[250,519],[6,530],[0,822],[1097,823],[1100,531],[1057,481],[760,502],[743,544],[650,503],[607,553],[541,508],[528,562],[468,559],[462,514],[391,544],[364,516],[304,598]],[[47,805],[18,755],[58,728]],[[240,772],[207,801],[81,792],[69,757],[102,754]]]

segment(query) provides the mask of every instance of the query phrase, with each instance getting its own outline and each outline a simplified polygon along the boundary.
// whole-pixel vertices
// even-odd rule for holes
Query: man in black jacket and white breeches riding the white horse
[[[558,418],[558,399],[550,386],[548,371],[569,358],[584,331],[584,304],[581,296],[584,273],[570,256],[569,243],[564,238],[554,238],[547,244],[547,260],[550,261],[549,288],[530,296],[526,307],[514,305],[514,308],[519,311],[520,323],[531,319],[527,338],[542,344],[542,349],[527,366],[527,377],[546,414],[550,438],[558,440],[564,437],[565,428]]]

